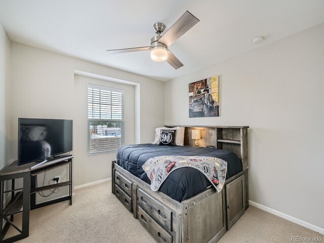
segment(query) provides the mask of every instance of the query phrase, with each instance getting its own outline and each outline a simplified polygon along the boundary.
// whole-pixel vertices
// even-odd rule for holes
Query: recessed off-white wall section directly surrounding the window
[[[125,91],[125,144],[135,144],[135,86],[118,84],[86,76],[74,78],[73,152],[75,185],[111,177],[110,161],[116,153],[88,156],[88,84],[100,85]]]

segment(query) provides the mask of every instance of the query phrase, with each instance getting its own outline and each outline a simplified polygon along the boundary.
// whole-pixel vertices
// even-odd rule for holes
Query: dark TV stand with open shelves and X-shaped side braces
[[[4,242],[14,242],[23,238],[28,237],[29,235],[29,211],[44,207],[50,204],[58,203],[63,200],[70,200],[70,205],[72,205],[72,158],[73,155],[67,157],[56,158],[50,161],[47,161],[44,164],[29,163],[22,166],[17,166],[17,161],[14,161],[9,166],[5,167],[0,171],[0,196],[1,196],[1,205],[0,205],[0,243]],[[30,169],[32,166],[38,165],[36,168]],[[42,187],[36,187],[35,177],[38,174],[44,173],[49,170],[61,166],[69,166],[69,180],[53,185],[47,185]],[[15,179],[23,178],[23,187],[15,188]],[[11,180],[11,189],[5,188],[5,181]],[[8,183],[6,184],[8,185]],[[39,191],[49,190],[53,188],[58,188],[62,186],[69,186],[69,195],[47,201],[42,204],[35,204],[35,194]],[[6,194],[11,194],[11,200],[4,207],[4,200]],[[14,215],[22,213],[22,227],[21,229],[17,227],[14,223]],[[3,224],[5,221],[5,224]],[[4,239],[9,227],[12,226],[18,230],[20,234],[13,237]]]

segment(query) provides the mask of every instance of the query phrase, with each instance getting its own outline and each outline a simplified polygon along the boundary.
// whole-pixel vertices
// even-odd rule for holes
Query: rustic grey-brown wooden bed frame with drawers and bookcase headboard
[[[166,126],[177,127],[177,126]],[[249,207],[248,128],[185,127],[185,145],[193,146],[191,131],[200,129],[200,147],[215,146],[236,153],[243,171],[227,179],[220,193],[214,187],[179,203],[112,161],[112,193],[160,243],[217,242]]]

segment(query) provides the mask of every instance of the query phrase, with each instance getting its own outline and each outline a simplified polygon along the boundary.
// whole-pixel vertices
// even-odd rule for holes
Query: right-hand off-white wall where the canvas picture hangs
[[[324,24],[165,84],[165,124],[247,125],[252,201],[324,228]],[[188,84],[220,75],[220,117],[188,118]]]

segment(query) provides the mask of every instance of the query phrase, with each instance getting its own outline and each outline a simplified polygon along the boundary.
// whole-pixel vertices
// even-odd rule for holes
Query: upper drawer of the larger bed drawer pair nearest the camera
[[[172,212],[140,188],[137,190],[137,196],[139,206],[163,228],[172,231]]]

